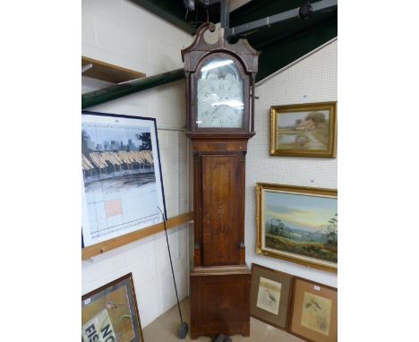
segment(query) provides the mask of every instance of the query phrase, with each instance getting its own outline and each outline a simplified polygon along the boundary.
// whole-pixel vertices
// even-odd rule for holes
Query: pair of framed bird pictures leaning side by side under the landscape
[[[252,264],[251,316],[312,342],[338,341],[338,289]]]

